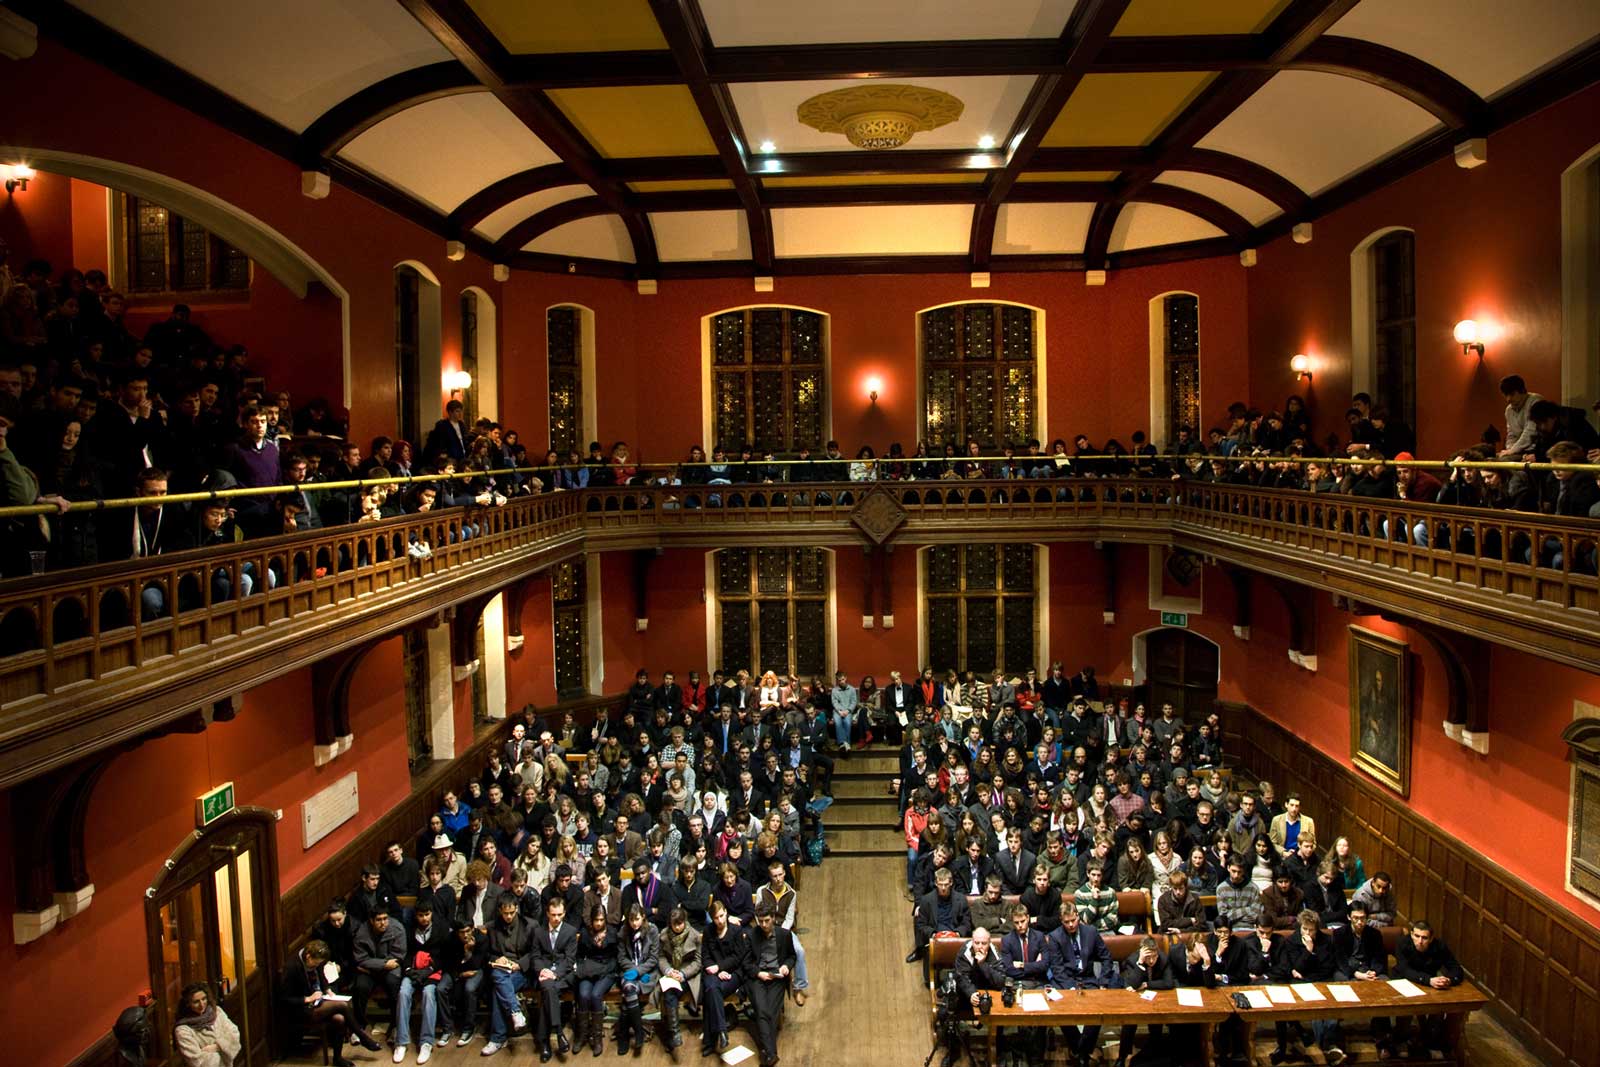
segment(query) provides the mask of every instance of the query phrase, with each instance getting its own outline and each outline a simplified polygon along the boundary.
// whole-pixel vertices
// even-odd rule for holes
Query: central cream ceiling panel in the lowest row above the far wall
[[[779,256],[963,254],[971,205],[874,208],[774,208]]]

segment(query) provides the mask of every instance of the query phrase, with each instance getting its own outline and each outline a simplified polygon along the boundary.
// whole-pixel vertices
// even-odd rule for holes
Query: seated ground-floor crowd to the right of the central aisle
[[[1426,921],[1398,937],[1390,966],[1379,928],[1397,921],[1394,878],[1368,877],[1347,838],[1320,845],[1328,838],[1298,795],[1280,803],[1270,782],[1234,789],[1216,715],[1186,723],[1170,704],[1155,717],[1125,699],[1109,705],[1093,670],[1069,678],[1061,664],[1043,681],[1030,672],[963,696],[970,704],[957,705],[939,683],[907,686],[901,749],[915,945],[906,961],[968,939],[954,963],[957,1016],[1006,984],[1462,981]],[[1120,912],[1123,902],[1133,909]],[[1117,1064],[1133,1054],[1134,1030],[1122,1029]],[[1198,1057],[1179,1032],[1150,1030],[1171,1062]],[[1310,1030],[1323,1062],[1346,1059],[1336,1021]],[[1384,1057],[1402,1046],[1426,1057],[1446,1041],[1434,1017],[1416,1032],[1408,1019],[1379,1019],[1371,1032]],[[950,1037],[946,1067],[962,1048]],[[1275,1037],[1274,1064],[1309,1061],[1299,1024],[1278,1024]],[[1069,1064],[1101,1061],[1099,1027],[1066,1027],[1064,1038]],[[1226,1030],[1224,1057],[1243,1059],[1248,1040]],[[1042,1062],[1043,1051],[1037,1035],[1008,1045],[1016,1062]]]

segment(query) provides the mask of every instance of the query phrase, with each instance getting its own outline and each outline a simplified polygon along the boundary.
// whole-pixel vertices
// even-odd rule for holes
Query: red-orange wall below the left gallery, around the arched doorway
[[[400,691],[400,641],[373,649],[350,685],[350,750],[312,761],[310,670],[245,694],[230,723],[171,734],[117,757],[101,779],[85,832],[94,901],[45,937],[0,945],[0,971],[26,977],[26,1001],[8,998],[0,1025],[18,1064],[66,1064],[104,1033],[117,1013],[149,989],[144,891],[162,861],[194,830],[194,798],[226,781],[240,805],[283,811],[280,886],[288,889],[411,792]],[[299,805],[349,773],[358,774],[360,811],[310,849],[301,848]],[[0,854],[10,856],[11,792],[0,800]],[[0,912],[13,910],[0,878]],[[38,1025],[40,1008],[74,1005],[72,1025]]]

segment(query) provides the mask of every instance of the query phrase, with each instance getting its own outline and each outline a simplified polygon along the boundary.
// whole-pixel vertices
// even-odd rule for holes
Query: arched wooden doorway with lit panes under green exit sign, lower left
[[[155,993],[155,1064],[176,1064],[173,1024],[190,982],[206,982],[238,1025],[240,1067],[270,1062],[278,944],[277,817],[235,808],[171,854],[144,899]]]

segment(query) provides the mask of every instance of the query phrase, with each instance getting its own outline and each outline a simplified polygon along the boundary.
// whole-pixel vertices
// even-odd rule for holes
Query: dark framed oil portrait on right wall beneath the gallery
[[[1350,761],[1402,797],[1411,793],[1410,649],[1350,627]]]

